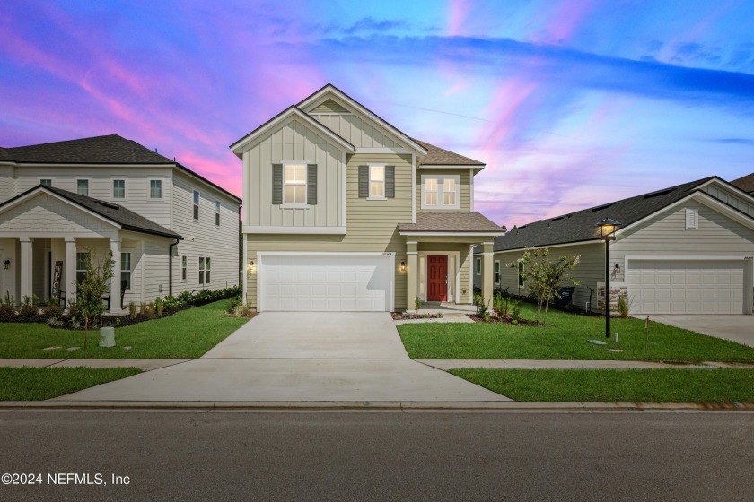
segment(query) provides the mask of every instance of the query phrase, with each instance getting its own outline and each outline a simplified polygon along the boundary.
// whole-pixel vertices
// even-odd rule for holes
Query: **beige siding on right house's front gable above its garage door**
[[[698,211],[698,229],[686,229],[686,209]],[[610,244],[610,263],[620,265],[614,281],[626,280],[625,257],[639,255],[741,255],[743,259],[754,255],[754,230],[703,203],[689,201],[618,234],[618,239]]]

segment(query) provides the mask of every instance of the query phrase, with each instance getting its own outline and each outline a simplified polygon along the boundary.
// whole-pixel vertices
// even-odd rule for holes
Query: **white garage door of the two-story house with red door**
[[[260,310],[390,311],[390,255],[262,255]]]

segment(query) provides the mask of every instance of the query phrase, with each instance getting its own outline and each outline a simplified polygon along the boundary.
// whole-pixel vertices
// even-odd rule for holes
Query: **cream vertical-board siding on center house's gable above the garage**
[[[273,227],[342,227],[344,151],[293,119],[243,152],[249,198],[244,225]],[[317,203],[285,208],[272,203],[272,165],[282,160],[317,164]]]

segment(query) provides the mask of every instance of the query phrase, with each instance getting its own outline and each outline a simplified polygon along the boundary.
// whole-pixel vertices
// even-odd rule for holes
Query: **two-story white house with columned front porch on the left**
[[[110,313],[238,284],[241,200],[118,135],[0,148],[0,291],[75,299],[85,253],[113,252]]]

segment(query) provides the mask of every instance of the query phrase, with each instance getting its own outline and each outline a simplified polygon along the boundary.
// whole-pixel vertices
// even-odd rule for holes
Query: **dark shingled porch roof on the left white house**
[[[110,203],[107,201],[101,201],[93,197],[87,197],[86,195],[78,195],[67,190],[61,190],[54,186],[34,186],[30,190],[16,195],[12,199],[8,199],[4,203],[0,204],[0,212],[4,210],[6,206],[13,205],[17,202],[22,202],[22,199],[30,197],[35,193],[48,192],[52,195],[57,195],[65,199],[69,203],[73,203],[83,209],[93,212],[98,216],[101,216],[105,220],[111,221],[118,225],[121,229],[131,230],[135,232],[152,234],[168,238],[180,238],[180,234],[166,229],[162,225],[155,223],[152,220],[146,219],[144,216],[133,212],[122,205],[117,203]]]

